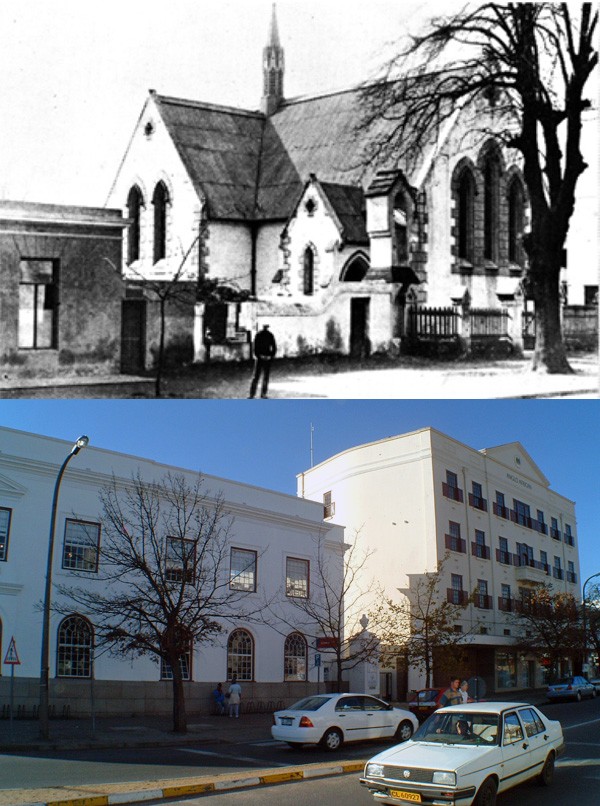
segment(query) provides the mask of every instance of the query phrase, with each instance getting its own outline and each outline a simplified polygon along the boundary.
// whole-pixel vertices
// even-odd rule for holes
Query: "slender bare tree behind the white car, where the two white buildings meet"
[[[302,631],[315,647],[321,639],[320,652],[325,660],[333,662],[332,682],[337,691],[343,690],[344,672],[374,660],[379,650],[379,641],[372,632],[375,624],[369,624],[366,631],[364,620],[361,623],[369,603],[377,595],[377,586],[365,576],[372,552],[359,547],[358,534],[351,544],[342,547],[328,544],[322,534],[316,536],[310,589],[288,581],[280,598],[291,605],[293,615],[276,607],[275,619],[271,621]],[[344,556],[340,556],[344,549]]]

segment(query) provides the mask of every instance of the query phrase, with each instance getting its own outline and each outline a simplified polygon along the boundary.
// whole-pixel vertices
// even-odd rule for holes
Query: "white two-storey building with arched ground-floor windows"
[[[76,436],[76,435],[75,435]],[[15,708],[34,707],[39,693],[42,612],[53,491],[72,443],[0,428],[0,655],[14,639],[20,665],[15,669]],[[59,585],[104,584],[98,573],[103,539],[100,491],[111,479],[117,488],[160,481],[167,473],[193,484],[198,474],[150,459],[86,447],[70,460],[60,486],[53,562],[53,600]],[[323,521],[320,504],[296,496],[203,474],[210,502],[220,496],[233,518],[225,579],[250,602],[279,602],[294,623],[292,597],[306,597],[319,538],[341,576],[343,529]],[[165,535],[165,540],[168,537]],[[168,553],[167,553],[168,556]],[[101,555],[100,555],[101,558]],[[101,570],[101,569],[100,569]],[[243,571],[243,574],[241,573]],[[75,573],[77,572],[77,573]],[[241,585],[241,588],[240,588]],[[170,670],[148,657],[91,657],[93,625],[81,614],[53,612],[50,622],[50,704],[58,713],[90,708],[91,689],[99,713],[167,713],[171,708]],[[319,670],[314,646],[299,630],[279,623],[223,625],[214,645],[192,648],[185,675],[190,712],[206,710],[210,692],[237,672],[246,703],[277,705],[316,688]],[[0,701],[8,702],[8,666],[2,667]]]

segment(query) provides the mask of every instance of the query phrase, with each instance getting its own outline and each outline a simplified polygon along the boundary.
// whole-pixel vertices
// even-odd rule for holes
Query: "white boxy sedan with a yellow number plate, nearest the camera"
[[[440,708],[412,739],[367,762],[360,783],[378,803],[493,806],[530,778],[548,786],[564,752],[560,722],[526,703]]]

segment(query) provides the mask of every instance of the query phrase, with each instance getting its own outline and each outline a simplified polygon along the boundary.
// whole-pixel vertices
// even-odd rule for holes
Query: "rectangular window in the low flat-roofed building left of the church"
[[[57,317],[58,261],[21,260],[18,346],[27,350],[56,348]]]

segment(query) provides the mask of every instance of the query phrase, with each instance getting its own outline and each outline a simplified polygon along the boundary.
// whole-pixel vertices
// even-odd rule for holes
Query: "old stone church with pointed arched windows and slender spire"
[[[207,331],[222,358],[247,356],[264,323],[279,355],[361,356],[399,348],[411,305],[522,307],[527,193],[518,153],[481,137],[502,123],[494,98],[457,108],[409,167],[366,159],[393,124],[358,128],[364,88],[286,98],[275,6],[263,76],[259,110],[154,90],[142,109],[108,205],[130,221],[124,276],[147,358],[149,279],[227,291],[169,319],[167,339],[196,360]]]

